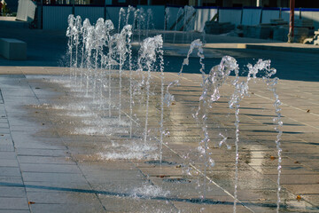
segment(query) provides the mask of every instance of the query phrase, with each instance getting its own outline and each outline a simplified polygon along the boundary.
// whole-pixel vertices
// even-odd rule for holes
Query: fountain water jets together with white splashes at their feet
[[[129,14],[130,12],[134,12],[134,27],[137,24],[137,28],[141,29],[143,28],[143,24],[145,25],[145,13],[141,9],[135,10],[133,7],[128,7],[128,12],[126,13],[124,10],[120,11],[120,17],[119,17],[119,28],[118,28],[118,34],[115,34],[111,36],[111,32],[113,31],[113,23],[111,20],[103,20],[99,19],[97,20],[97,24],[95,26],[91,26],[89,23],[89,20],[84,20],[83,25],[81,25],[81,17],[76,17],[74,19],[74,16],[69,16],[68,24],[69,27],[67,28],[66,36],[68,36],[68,54],[70,56],[70,67],[71,68],[77,68],[79,67],[79,61],[78,61],[78,54],[82,53],[81,58],[81,87],[82,87],[82,75],[84,74],[84,68],[87,67],[87,71],[85,73],[86,76],[86,83],[87,83],[87,89],[86,94],[88,96],[89,89],[93,91],[93,99],[95,96],[95,91],[98,85],[100,85],[100,102],[99,104],[105,104],[108,103],[109,107],[109,116],[111,117],[111,108],[112,107],[118,107],[119,109],[119,121],[115,122],[116,119],[108,118],[108,121],[105,120],[99,120],[92,122],[89,120],[89,116],[92,117],[98,117],[99,115],[97,113],[89,113],[87,111],[87,108],[89,106],[80,107],[80,106],[72,106],[74,112],[69,112],[68,114],[64,114],[67,116],[76,116],[76,117],[82,117],[83,118],[83,124],[87,125],[84,128],[75,128],[74,134],[86,134],[86,135],[111,135],[114,132],[115,133],[128,133],[129,137],[132,138],[132,126],[133,126],[133,104],[134,104],[134,86],[133,85],[133,64],[132,64],[132,50],[131,50],[131,35],[132,35],[132,27],[130,25],[126,25],[124,28],[121,29],[121,19],[123,16],[126,16],[125,23],[128,24],[129,20]],[[180,8],[179,13],[185,12],[184,14],[184,26],[183,30],[187,29],[187,24],[191,23],[193,20],[193,12],[191,12],[191,9],[185,7],[184,9]],[[150,11],[147,11],[148,17],[147,17],[147,30],[146,34],[148,35],[148,31],[150,28],[150,20],[152,20],[151,15],[152,13]],[[168,13],[168,11],[167,11]],[[141,17],[138,17],[138,14],[142,14]],[[138,18],[137,18],[138,17]],[[138,19],[138,20],[137,20]],[[177,15],[177,19],[179,19],[179,16]],[[142,22],[141,22],[142,21]],[[165,26],[164,28],[167,28],[167,21],[168,16],[165,20]],[[177,28],[177,20],[175,29]],[[144,28],[145,29],[145,28]],[[139,39],[141,36],[141,32],[139,33]],[[79,50],[79,46],[81,44],[81,36],[82,36],[82,51]],[[175,36],[174,36],[175,40]],[[163,59],[163,39],[161,36],[154,36],[151,38],[144,39],[143,43],[141,43],[141,48],[139,51],[139,56],[137,59],[137,73],[143,73],[144,70],[147,71],[146,79],[144,78],[140,83],[137,83],[138,85],[145,85],[145,122],[144,122],[144,130],[143,130],[143,139],[140,141],[142,143],[138,144],[136,141],[132,143],[125,143],[122,145],[114,144],[113,143],[113,152],[108,151],[106,154],[100,154],[101,159],[103,160],[112,160],[112,159],[151,159],[151,158],[158,158],[160,159],[160,162],[162,161],[162,145],[163,145],[163,137],[166,134],[166,131],[164,130],[164,106],[166,105],[169,107],[171,105],[171,102],[175,100],[175,97],[169,93],[169,89],[175,85],[180,84],[181,76],[183,75],[183,67],[186,65],[188,66],[190,61],[189,58],[191,56],[191,53],[198,49],[197,55],[199,57],[199,64],[200,69],[199,73],[202,76],[202,91],[201,95],[198,99],[198,109],[195,114],[193,114],[194,118],[200,123],[201,130],[203,134],[203,139],[198,143],[198,153],[199,153],[199,160],[204,162],[204,168],[202,174],[202,177],[204,177],[204,183],[201,185],[203,188],[203,194],[201,196],[202,200],[206,200],[206,191],[207,191],[207,178],[206,178],[206,171],[210,168],[214,167],[214,160],[211,157],[211,151],[209,148],[209,144],[211,141],[211,138],[209,137],[208,132],[208,124],[207,124],[207,116],[208,116],[208,109],[213,107],[213,104],[218,101],[221,98],[221,88],[224,83],[227,82],[229,79],[229,76],[231,73],[235,74],[235,79],[231,82],[231,84],[235,87],[235,90],[230,98],[229,107],[235,109],[235,146],[236,146],[236,157],[235,157],[235,190],[234,190],[234,212],[237,210],[237,182],[238,182],[238,146],[239,146],[239,109],[240,109],[240,102],[242,99],[245,98],[245,96],[248,95],[249,90],[249,82],[252,79],[257,78],[257,74],[261,73],[261,71],[265,71],[266,75],[263,76],[263,79],[265,83],[268,86],[268,90],[272,91],[275,97],[275,110],[276,110],[276,117],[274,118],[274,123],[276,124],[275,130],[278,132],[276,136],[276,147],[277,147],[277,154],[278,154],[278,177],[277,177],[277,212],[279,211],[280,207],[280,174],[281,174],[281,147],[280,147],[280,138],[283,133],[281,130],[281,127],[283,125],[283,122],[281,121],[281,102],[279,100],[279,97],[276,93],[276,84],[278,79],[272,78],[273,75],[276,74],[276,70],[273,68],[270,68],[270,61],[269,60],[259,60],[254,66],[251,64],[248,64],[247,67],[249,69],[248,75],[243,82],[239,82],[239,68],[237,65],[237,60],[230,57],[225,56],[222,58],[219,65],[214,66],[211,68],[208,75],[205,74],[205,65],[203,62],[204,59],[204,51],[203,51],[203,43],[200,40],[195,40],[191,43],[190,50],[187,53],[187,57],[183,59],[183,64],[180,69],[180,72],[178,73],[178,79],[173,81],[172,83],[169,83],[167,86],[167,90],[165,93],[164,90],[164,59]],[[75,48],[75,50],[74,50]],[[105,51],[107,51],[107,54],[105,55]],[[91,62],[92,59],[95,59],[94,62]],[[100,60],[101,64],[97,65],[97,61]],[[129,68],[129,124],[124,123],[124,121],[121,121],[121,113],[122,112],[122,99],[124,95],[122,96],[122,73],[123,73],[123,67],[128,64]],[[99,75],[99,79],[97,78],[97,72],[98,72],[98,66],[101,68],[101,73]],[[118,93],[116,91],[113,91],[114,94],[114,102],[112,106],[112,69],[114,67],[119,67],[119,91]],[[102,72],[104,68],[107,70],[108,74],[108,81],[107,85],[103,81],[105,81]],[[149,102],[150,102],[150,96],[152,96],[151,91],[151,72],[158,70],[160,71],[160,122],[159,122],[159,153],[154,154],[154,152],[158,149],[157,146],[151,146],[150,142],[151,140],[148,140],[148,138],[151,138],[152,135],[149,130],[148,126],[148,119],[149,119]],[[74,72],[74,73],[72,73]],[[72,78],[72,75],[75,77],[75,83],[76,83],[76,72],[77,70],[71,70],[70,71],[70,78]],[[92,83],[92,84],[89,84]],[[98,84],[100,83],[100,84]],[[72,84],[69,83],[69,87],[72,87]],[[104,86],[105,85],[105,86]],[[137,87],[136,86],[136,87]],[[109,92],[109,97],[107,99],[107,102],[102,101],[103,97],[103,90],[107,89]],[[72,91],[72,90],[71,90]],[[81,92],[81,90],[74,90],[77,92]],[[90,91],[90,92],[91,92]],[[164,94],[165,93],[165,94]],[[117,95],[116,99],[115,96]],[[93,101],[96,105],[95,102]],[[143,99],[144,103],[144,99]],[[117,105],[117,106],[116,106]],[[52,108],[59,109],[60,106],[52,106]],[[102,110],[103,108],[100,107],[98,110]],[[97,110],[97,108],[95,108]],[[62,115],[62,114],[61,114]],[[84,121],[85,120],[85,121]],[[109,122],[109,123],[107,123]],[[124,123],[124,124],[121,124]],[[95,127],[97,125],[98,128]],[[117,125],[117,126],[116,126]],[[136,122],[136,127],[138,127],[139,124]],[[122,130],[123,128],[128,128],[127,130]],[[121,129],[122,128],[122,129]],[[167,131],[168,132],[168,131]],[[227,137],[222,135],[222,133],[219,134],[219,137],[221,138],[221,141],[219,142],[219,145],[226,145],[227,148],[230,148],[230,145],[227,143]],[[124,151],[123,151],[124,150]],[[148,190],[145,188],[136,189],[135,193],[140,193],[139,190],[144,190],[143,192],[147,192]],[[156,189],[152,189],[153,192],[156,191]],[[152,196],[150,193],[145,193],[145,196]],[[156,195],[154,195],[156,196]],[[164,195],[166,196],[166,195]]]

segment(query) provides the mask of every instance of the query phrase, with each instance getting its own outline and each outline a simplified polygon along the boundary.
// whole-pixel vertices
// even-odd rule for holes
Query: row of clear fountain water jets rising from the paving
[[[193,11],[191,9],[185,8],[184,15],[184,27],[185,24],[191,19],[191,15]],[[181,11],[181,12],[180,12]],[[179,13],[182,13],[180,10]],[[190,11],[190,12],[188,12]],[[119,128],[129,128],[129,139],[132,141],[136,138],[142,138],[144,147],[143,146],[136,146],[144,150],[143,154],[139,154],[139,159],[148,159],[147,152],[153,151],[152,148],[148,148],[148,143],[152,141],[152,138],[156,138],[156,136],[150,133],[149,127],[149,111],[150,111],[150,99],[152,98],[152,72],[159,71],[159,78],[160,78],[160,94],[159,94],[159,150],[158,154],[155,156],[154,159],[159,159],[159,163],[163,162],[163,145],[164,143],[164,136],[165,136],[165,122],[164,118],[166,114],[164,113],[164,107],[167,106],[169,108],[172,105],[172,102],[175,101],[174,95],[170,92],[172,87],[178,87],[181,83],[181,78],[183,76],[183,69],[184,66],[188,66],[190,64],[190,57],[191,53],[197,49],[197,55],[199,58],[199,74],[202,77],[201,82],[201,94],[198,97],[198,108],[196,112],[193,114],[194,119],[198,122],[198,125],[202,131],[202,139],[198,141],[198,148],[197,150],[192,150],[198,154],[198,161],[202,162],[202,168],[200,168],[201,178],[203,179],[203,183],[201,184],[202,187],[202,194],[200,195],[200,201],[206,202],[207,196],[206,193],[208,191],[207,185],[210,184],[210,179],[208,178],[207,170],[211,170],[214,168],[215,162],[212,157],[212,152],[210,149],[212,138],[210,137],[210,128],[207,122],[208,114],[211,108],[214,108],[216,102],[221,98],[222,87],[224,85],[230,85],[234,89],[232,95],[230,96],[229,107],[230,109],[234,108],[235,114],[235,177],[234,177],[234,194],[231,195],[234,199],[234,207],[233,211],[237,211],[237,182],[238,182],[238,162],[239,162],[239,111],[240,111],[240,103],[242,99],[244,99],[249,94],[249,83],[252,80],[257,78],[257,74],[260,74],[266,83],[268,90],[271,91],[275,97],[275,112],[276,117],[274,118],[274,123],[276,125],[276,148],[277,148],[277,155],[278,155],[278,177],[277,177],[277,211],[280,208],[280,174],[281,174],[281,147],[280,147],[280,138],[282,135],[281,127],[283,122],[281,121],[281,114],[280,114],[280,105],[281,102],[278,98],[276,93],[276,83],[278,81],[277,78],[273,78],[273,75],[276,74],[276,69],[270,67],[270,60],[258,60],[255,65],[248,64],[248,75],[245,78],[245,81],[239,81],[239,67],[237,64],[237,60],[230,57],[224,56],[220,62],[220,64],[212,67],[208,74],[205,73],[205,64],[204,64],[204,50],[203,50],[203,43],[198,39],[191,43],[190,50],[187,53],[185,59],[183,59],[182,67],[178,73],[178,78],[175,79],[171,83],[167,83],[166,92],[165,88],[165,78],[164,78],[164,59],[163,59],[163,40],[162,36],[154,36],[145,38],[143,43],[140,43],[138,57],[136,61],[136,71],[135,66],[133,64],[133,57],[132,57],[132,46],[131,46],[131,37],[132,37],[132,26],[126,25],[121,28],[121,14],[124,14],[124,10],[120,11],[120,18],[119,18],[119,28],[118,33],[112,35],[113,32],[113,22],[111,20],[97,20],[97,24],[95,26],[91,26],[89,20],[84,20],[83,24],[81,23],[81,18],[74,19],[73,15],[70,15],[68,19],[69,27],[67,28],[66,36],[69,38],[68,42],[68,54],[70,57],[70,67],[77,68],[80,66],[81,70],[81,78],[80,78],[80,85],[82,89],[82,75],[85,76],[86,79],[86,90],[83,91],[86,96],[92,94],[92,98],[95,99],[97,84],[99,84],[100,88],[100,105],[108,105],[108,115],[111,117],[112,111],[111,109],[118,110],[118,122],[114,122],[114,125],[118,124]],[[126,17],[126,24],[128,23],[128,16],[130,12],[134,12],[135,22],[137,23],[137,29],[142,30],[142,23],[141,20],[143,18],[138,17],[138,13],[143,14],[143,10],[133,10],[132,8],[128,8],[127,17]],[[187,16],[188,13],[191,15]],[[148,23],[147,29],[149,28],[149,20],[151,20],[151,12],[148,11]],[[167,21],[167,20],[166,20]],[[186,21],[186,22],[185,22]],[[176,25],[175,25],[176,28]],[[185,29],[186,30],[186,29]],[[148,32],[146,31],[148,34]],[[140,32],[138,32],[140,39]],[[175,37],[174,37],[175,38]],[[81,41],[82,40],[82,41]],[[81,48],[82,43],[82,50]],[[75,49],[74,49],[75,47]],[[75,54],[75,57],[74,57]],[[78,63],[78,56],[82,55],[81,64]],[[74,59],[75,58],[75,59]],[[94,59],[94,63],[91,63],[92,58]],[[100,65],[98,65],[98,61],[100,60]],[[125,71],[125,66],[128,67],[128,72]],[[86,67],[84,69],[84,67]],[[98,68],[99,67],[99,68]],[[115,68],[115,70],[113,70]],[[112,71],[113,70],[113,71]],[[104,74],[107,73],[107,77]],[[116,72],[116,76],[113,75],[112,72]],[[126,91],[124,90],[125,84],[123,83],[123,79],[125,79],[128,73],[128,95],[129,99],[126,99]],[[144,76],[146,74],[146,77]],[[71,81],[76,82],[76,75],[77,72],[70,73]],[[139,75],[138,77],[134,77],[134,75]],[[235,77],[231,77],[230,75],[234,75]],[[74,78],[72,77],[74,76]],[[118,87],[114,90],[113,87],[118,81]],[[139,92],[135,93],[135,90]],[[144,90],[144,91],[143,91]],[[164,94],[165,93],[165,94]],[[108,95],[106,101],[104,94]],[[138,96],[139,95],[139,96]],[[145,99],[143,96],[145,95]],[[112,97],[113,96],[113,97]],[[112,99],[113,98],[113,99]],[[141,105],[144,107],[144,120],[140,121],[137,120],[134,116],[134,101],[135,99],[139,99]],[[128,113],[126,113],[126,104],[129,105]],[[103,111],[104,107],[101,106],[99,110]],[[122,116],[125,116],[125,119],[129,120],[129,125],[125,126],[122,125],[124,122]],[[136,123],[136,129],[139,126],[143,126],[141,131],[143,133],[139,134],[138,132],[133,130],[133,123]],[[139,135],[138,135],[139,134]],[[134,136],[135,135],[135,136]],[[222,132],[218,134],[222,140],[219,142],[219,146],[225,144],[228,149],[231,148],[230,143],[227,142],[227,137],[223,136]],[[165,145],[166,146],[166,145]],[[124,146],[128,147],[128,146]],[[136,152],[136,148],[130,147],[130,152]],[[115,156],[116,153],[113,154]],[[117,155],[116,155],[117,156]],[[130,155],[131,158],[134,158],[134,154]],[[191,165],[191,163],[190,163]],[[185,165],[188,170],[190,168],[194,168],[193,165],[188,167]],[[189,172],[191,174],[191,172]],[[209,182],[207,182],[207,180]]]

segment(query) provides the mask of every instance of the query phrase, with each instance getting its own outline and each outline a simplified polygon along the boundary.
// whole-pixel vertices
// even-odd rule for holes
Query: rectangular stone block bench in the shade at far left
[[[27,43],[14,38],[0,38],[0,55],[5,59],[27,59]]]

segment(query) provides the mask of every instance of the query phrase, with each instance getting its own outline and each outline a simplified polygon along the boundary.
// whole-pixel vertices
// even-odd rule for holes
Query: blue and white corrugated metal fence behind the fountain
[[[21,1],[21,0],[20,0]],[[127,10],[127,7],[123,7]],[[284,19],[289,21],[289,8],[218,8],[218,7],[196,7],[196,13],[191,14],[184,20],[182,7],[175,6],[144,6],[137,5],[137,8],[152,10],[152,25],[155,29],[183,30],[186,23],[193,30],[202,32],[207,20],[212,20],[218,13],[219,22],[230,22],[237,25],[255,26],[261,23],[270,23],[270,20]],[[82,20],[88,18],[95,23],[100,17],[113,21],[115,28],[119,25],[119,12],[121,6],[90,6],[75,5],[43,5],[43,29],[66,29],[67,16],[74,12],[74,15],[81,15]],[[166,14],[166,12],[168,12]],[[313,20],[315,29],[319,28],[319,9],[301,8],[295,11],[295,19]],[[130,24],[133,20],[130,18]],[[166,24],[166,26],[165,26]]]

